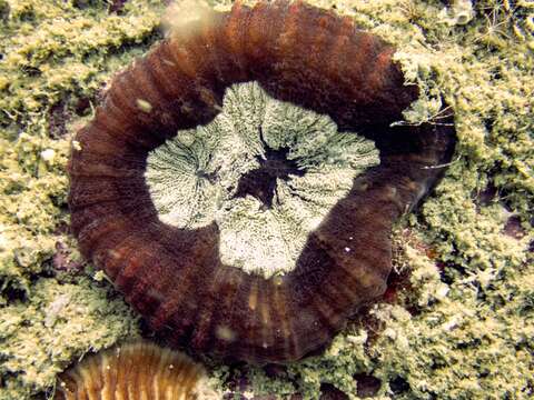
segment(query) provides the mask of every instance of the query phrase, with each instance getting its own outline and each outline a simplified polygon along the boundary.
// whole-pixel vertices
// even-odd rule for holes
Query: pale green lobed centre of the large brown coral
[[[269,278],[296,267],[308,233],[378,163],[373,141],[248,82],[209,124],[150,152],[145,177],[162,222],[215,221],[222,262]]]

